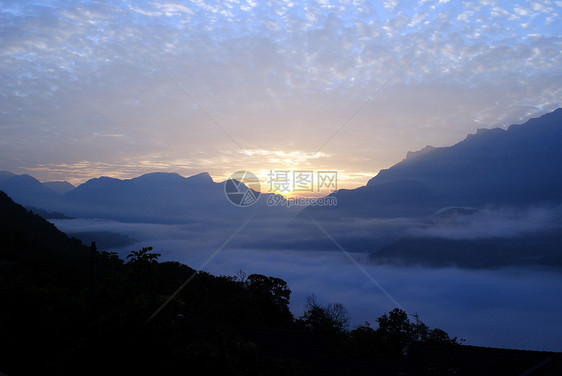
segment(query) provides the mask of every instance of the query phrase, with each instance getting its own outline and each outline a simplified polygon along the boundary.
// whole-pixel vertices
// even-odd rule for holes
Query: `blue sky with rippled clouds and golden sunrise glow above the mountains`
[[[0,170],[337,171],[562,102],[562,1],[0,2]]]

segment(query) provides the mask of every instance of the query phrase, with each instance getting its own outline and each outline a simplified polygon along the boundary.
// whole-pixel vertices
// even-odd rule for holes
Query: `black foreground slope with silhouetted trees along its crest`
[[[465,346],[395,309],[347,329],[338,303],[289,311],[282,279],[197,272],[152,248],[84,246],[0,191],[0,372],[551,375],[561,354]],[[170,295],[191,282],[146,323]]]

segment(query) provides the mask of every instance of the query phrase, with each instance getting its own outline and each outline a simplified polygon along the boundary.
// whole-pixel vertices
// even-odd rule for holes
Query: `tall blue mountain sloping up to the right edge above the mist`
[[[449,147],[426,147],[381,170],[366,186],[339,190],[320,219],[427,216],[444,207],[562,203],[562,109],[522,125],[479,129]]]

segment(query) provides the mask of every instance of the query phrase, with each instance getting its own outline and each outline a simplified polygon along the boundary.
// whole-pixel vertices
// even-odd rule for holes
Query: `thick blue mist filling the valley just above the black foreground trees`
[[[109,221],[55,221],[65,231],[117,231],[141,240],[116,249],[122,256],[143,246],[154,246],[162,260],[197,268],[230,236],[205,232],[194,225],[126,224]],[[251,226],[250,226],[251,227]],[[208,236],[211,241],[198,241]],[[244,234],[240,234],[244,236]],[[408,312],[418,313],[430,327],[440,327],[467,344],[533,350],[561,351],[558,299],[562,276],[533,269],[475,271],[373,266],[365,254],[352,253],[362,267]],[[205,270],[233,276],[242,269],[285,279],[292,290],[291,310],[303,313],[306,297],[342,303],[352,327],[393,309],[392,302],[334,248],[331,252],[241,249],[229,246],[211,259]]]

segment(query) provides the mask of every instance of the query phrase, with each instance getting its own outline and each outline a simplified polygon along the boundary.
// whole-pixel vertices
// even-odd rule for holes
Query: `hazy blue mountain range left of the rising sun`
[[[102,176],[71,187],[66,182],[40,183],[30,175],[0,174],[0,189],[16,202],[75,218],[191,223],[207,229],[238,226],[258,211],[263,218],[288,221],[299,210],[268,206],[271,193],[262,193],[255,205],[235,206],[225,194],[225,182],[214,182],[206,172],[189,177],[164,172],[132,179]]]

